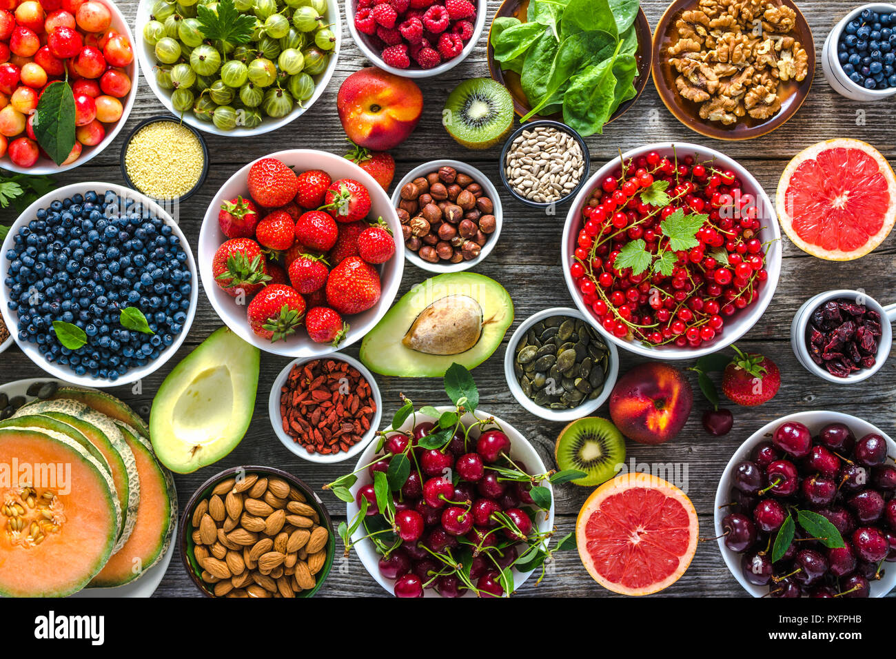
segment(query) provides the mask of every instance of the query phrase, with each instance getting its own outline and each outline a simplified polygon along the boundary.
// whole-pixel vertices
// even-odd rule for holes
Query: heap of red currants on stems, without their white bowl
[[[734,172],[690,155],[650,152],[623,165],[593,191],[582,212],[570,266],[576,287],[604,329],[619,338],[679,348],[711,342],[722,334],[726,316],[755,302],[768,278],[752,196]],[[648,188],[659,195],[645,194]],[[669,274],[615,267],[620,251],[635,240],[651,259],[672,251],[661,223],[678,209],[705,213],[706,220],[694,247],[672,252]]]

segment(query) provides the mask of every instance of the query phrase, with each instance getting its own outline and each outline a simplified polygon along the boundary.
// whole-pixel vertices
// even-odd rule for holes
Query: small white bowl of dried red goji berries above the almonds
[[[271,387],[268,413],[290,452],[313,463],[338,463],[375,437],[383,398],[364,364],[333,353],[290,361]]]

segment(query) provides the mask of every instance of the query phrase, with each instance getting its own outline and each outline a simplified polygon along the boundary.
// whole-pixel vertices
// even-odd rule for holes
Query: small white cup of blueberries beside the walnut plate
[[[824,42],[822,68],[847,99],[896,94],[896,4],[863,4],[844,16]]]

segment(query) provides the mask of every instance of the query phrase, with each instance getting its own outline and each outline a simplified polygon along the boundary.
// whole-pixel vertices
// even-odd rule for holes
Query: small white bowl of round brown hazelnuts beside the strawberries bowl
[[[411,169],[392,193],[404,256],[430,273],[459,273],[482,261],[501,233],[501,200],[491,181],[458,160]]]

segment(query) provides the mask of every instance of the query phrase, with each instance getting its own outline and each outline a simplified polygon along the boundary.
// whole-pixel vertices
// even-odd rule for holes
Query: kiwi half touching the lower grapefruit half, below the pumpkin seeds
[[[557,437],[557,469],[577,469],[587,476],[576,485],[599,485],[616,475],[625,463],[625,438],[611,421],[590,416],[573,421]]]

